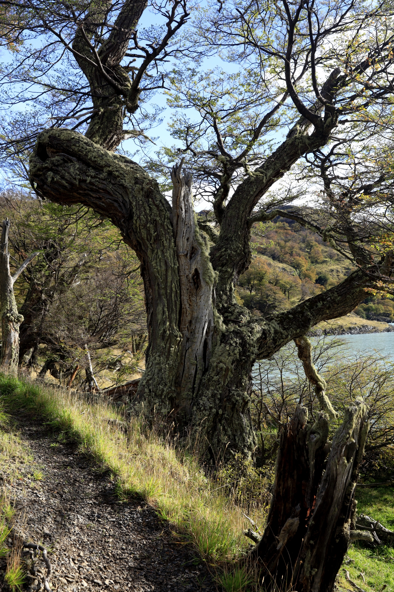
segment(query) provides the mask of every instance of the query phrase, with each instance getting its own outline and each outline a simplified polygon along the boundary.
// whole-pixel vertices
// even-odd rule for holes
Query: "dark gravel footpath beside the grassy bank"
[[[11,493],[25,540],[41,540],[48,549],[53,590],[217,589],[193,547],[175,540],[168,523],[144,501],[119,501],[108,472],[76,446],[58,443],[40,420],[19,414],[17,424],[34,460],[20,471]],[[28,592],[43,592],[44,573],[44,564],[35,562]]]

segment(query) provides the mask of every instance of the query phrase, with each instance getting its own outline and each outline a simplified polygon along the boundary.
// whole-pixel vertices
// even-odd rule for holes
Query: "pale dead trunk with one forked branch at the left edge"
[[[18,313],[14,296],[14,282],[31,260],[38,254],[32,253],[12,276],[9,272],[8,253],[8,218],[3,221],[0,244],[0,305],[2,345],[0,353],[0,370],[9,374],[17,374],[19,361],[19,325],[23,317]]]

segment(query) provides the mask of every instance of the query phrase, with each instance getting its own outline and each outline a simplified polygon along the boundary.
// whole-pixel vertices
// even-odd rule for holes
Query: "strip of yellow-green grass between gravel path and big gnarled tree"
[[[87,404],[66,391],[3,376],[0,396],[8,410],[30,410],[44,417],[58,433],[78,442],[82,451],[112,472],[119,496],[144,498],[194,543],[202,558],[233,560],[248,548],[242,533],[247,526],[243,516],[247,506],[235,503],[231,495],[224,496],[221,492],[226,482],[206,478],[193,453],[176,451],[137,419],[131,419],[125,432],[124,418],[115,407]],[[252,509],[248,506],[248,515],[263,526],[267,498],[263,481],[259,489],[260,503]]]

